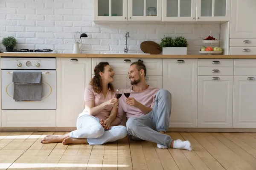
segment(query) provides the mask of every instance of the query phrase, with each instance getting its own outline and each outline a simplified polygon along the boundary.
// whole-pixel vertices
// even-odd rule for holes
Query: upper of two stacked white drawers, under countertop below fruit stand
[[[198,59],[198,67],[233,67],[234,59]]]

